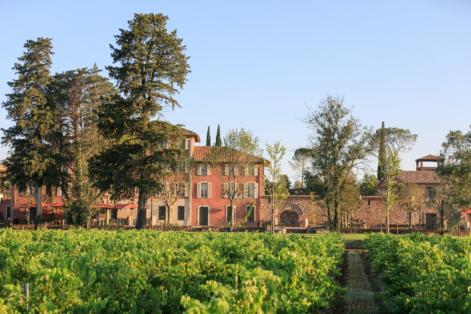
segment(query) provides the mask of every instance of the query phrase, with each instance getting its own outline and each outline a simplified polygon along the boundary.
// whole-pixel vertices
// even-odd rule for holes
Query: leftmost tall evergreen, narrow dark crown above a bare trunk
[[[36,230],[41,224],[43,186],[50,197],[53,187],[64,185],[68,175],[62,171],[65,159],[59,146],[63,137],[57,121],[54,78],[49,70],[51,39],[27,40],[24,48],[26,52],[18,58],[20,63],[13,67],[19,78],[8,82],[13,92],[2,104],[15,125],[1,130],[2,144],[13,148],[7,170],[11,184],[20,191],[28,185],[36,186]]]

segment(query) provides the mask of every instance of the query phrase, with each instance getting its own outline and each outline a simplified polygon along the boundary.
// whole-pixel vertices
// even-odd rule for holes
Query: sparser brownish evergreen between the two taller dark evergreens
[[[97,128],[96,110],[102,97],[115,94],[112,83],[99,73],[95,64],[91,69],[78,68],[54,76],[62,94],[58,102],[61,132],[65,136],[64,153],[70,158],[73,178],[65,190],[66,220],[71,225],[87,224],[96,209],[99,193],[88,175],[88,159],[106,148],[107,141]]]

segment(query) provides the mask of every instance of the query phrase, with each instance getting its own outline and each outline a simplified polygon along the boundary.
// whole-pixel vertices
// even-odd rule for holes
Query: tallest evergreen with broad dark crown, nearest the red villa
[[[170,145],[182,129],[154,119],[164,107],[179,106],[173,96],[190,72],[186,46],[176,30],[167,32],[167,20],[162,14],[135,14],[129,30],[115,36],[119,47],[110,45],[120,66],[106,69],[120,95],[98,109],[98,127],[110,145],[90,160],[90,175],[112,199],[134,197],[138,189],[137,229],[144,227],[148,195],[160,192],[166,170],[177,169],[174,157],[183,153],[180,145]]]

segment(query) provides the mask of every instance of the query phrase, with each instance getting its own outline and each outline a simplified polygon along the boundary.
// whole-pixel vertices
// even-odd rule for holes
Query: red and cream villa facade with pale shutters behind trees
[[[169,222],[178,225],[224,225],[229,223],[231,218],[235,223],[240,222],[247,210],[253,208],[252,215],[247,217],[244,225],[256,226],[262,218],[260,197],[264,195],[263,160],[252,156],[251,164],[247,165],[244,171],[244,195],[240,195],[237,206],[232,210],[230,201],[227,198],[224,185],[230,184],[229,180],[223,179],[221,173],[227,170],[227,156],[224,156],[221,147],[218,146],[196,146],[200,143],[198,134],[185,130],[185,151],[193,160],[193,166],[186,169],[190,174],[189,182],[185,183],[185,188],[181,189],[178,200],[168,210],[165,201],[158,195],[149,196],[146,201],[145,224],[151,220],[154,225]],[[221,153],[218,162],[210,164],[208,156],[217,156]],[[212,159],[214,161],[214,159]],[[212,170],[212,171],[211,171]],[[216,171],[218,170],[218,171]],[[219,174],[219,175],[218,175]],[[20,224],[33,224],[35,214],[34,189],[20,192],[14,187],[11,188],[10,200],[0,203],[0,210],[3,217],[13,220],[17,217]],[[61,207],[49,207],[52,204],[60,204],[65,201],[65,197],[60,188],[54,188],[54,197],[48,198],[43,192],[42,219],[45,223],[59,225],[65,220],[64,211]],[[101,193],[99,202],[110,205],[127,205],[138,202],[138,192],[131,199],[119,201],[118,204],[109,198],[108,193]],[[33,206],[34,205],[34,206]],[[92,217],[92,223],[117,223],[135,225],[137,219],[137,209],[135,208],[97,208],[97,214]]]

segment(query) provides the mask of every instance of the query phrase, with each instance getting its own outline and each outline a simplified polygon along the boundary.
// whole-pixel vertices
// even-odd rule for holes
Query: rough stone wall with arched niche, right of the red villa
[[[381,196],[363,196],[361,202],[362,207],[353,212],[353,219],[365,219],[366,225],[385,223],[385,204]],[[271,205],[269,203],[269,197],[265,196],[260,200],[260,203],[262,206],[262,220],[270,221]],[[299,224],[301,224],[303,218],[307,218],[310,225],[325,224],[327,223],[327,211],[323,205],[324,203],[322,201],[315,201],[313,204],[311,197],[307,195],[290,195],[281,206],[275,209],[275,217],[280,221],[282,212],[285,210],[293,210],[298,214]],[[408,224],[408,211],[400,208],[397,204],[394,206],[394,210],[390,211],[389,217],[390,224]],[[412,223],[419,223],[418,213],[414,213]]]

